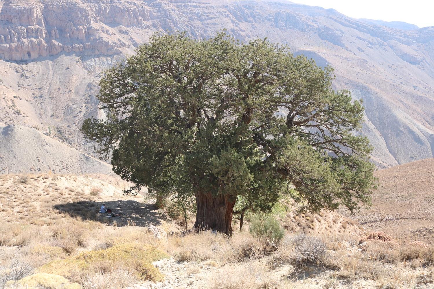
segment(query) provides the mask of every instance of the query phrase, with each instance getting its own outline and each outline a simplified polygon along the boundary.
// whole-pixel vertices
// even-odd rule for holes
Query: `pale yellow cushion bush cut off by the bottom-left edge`
[[[81,289],[78,283],[71,283],[65,277],[49,274],[49,273],[35,273],[33,275],[24,277],[18,281],[9,281],[6,283],[7,288],[16,288],[17,286],[25,288],[48,288],[48,289]]]

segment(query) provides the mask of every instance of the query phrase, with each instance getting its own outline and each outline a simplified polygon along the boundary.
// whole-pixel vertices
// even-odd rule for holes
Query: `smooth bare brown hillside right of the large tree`
[[[434,244],[434,159],[375,174],[380,187],[372,195],[372,208],[349,217],[368,231],[381,230],[403,240]]]

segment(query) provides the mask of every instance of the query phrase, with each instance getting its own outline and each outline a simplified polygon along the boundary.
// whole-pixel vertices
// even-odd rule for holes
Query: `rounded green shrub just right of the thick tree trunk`
[[[285,230],[279,221],[272,216],[265,219],[261,218],[260,215],[254,216],[249,230],[253,236],[264,238],[273,243],[279,243],[285,237]]]

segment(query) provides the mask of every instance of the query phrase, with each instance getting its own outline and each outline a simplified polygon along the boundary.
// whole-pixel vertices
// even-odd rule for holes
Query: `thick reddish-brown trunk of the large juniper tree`
[[[231,195],[213,196],[210,193],[196,193],[196,222],[194,229],[213,230],[232,234],[232,211],[237,198]]]

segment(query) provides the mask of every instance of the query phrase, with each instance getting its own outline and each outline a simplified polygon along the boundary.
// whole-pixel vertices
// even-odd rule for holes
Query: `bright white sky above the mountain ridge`
[[[333,8],[353,18],[404,21],[420,28],[434,26],[434,0],[291,0]]]

